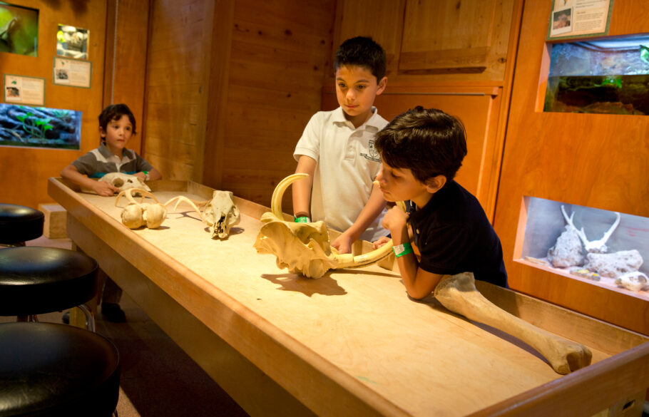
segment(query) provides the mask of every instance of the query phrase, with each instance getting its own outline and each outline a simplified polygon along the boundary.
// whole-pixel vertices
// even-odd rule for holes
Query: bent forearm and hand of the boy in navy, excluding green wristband
[[[383,227],[390,231],[392,244],[395,246],[410,243],[407,221],[408,215],[397,206],[388,210],[385,217],[383,217]],[[397,264],[406,291],[414,299],[422,299],[433,292],[443,276],[419,268],[419,262],[413,252],[397,257]]]

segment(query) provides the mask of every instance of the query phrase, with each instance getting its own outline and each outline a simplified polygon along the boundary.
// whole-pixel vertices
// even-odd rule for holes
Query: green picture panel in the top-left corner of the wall
[[[0,52],[38,56],[39,11],[0,1]]]

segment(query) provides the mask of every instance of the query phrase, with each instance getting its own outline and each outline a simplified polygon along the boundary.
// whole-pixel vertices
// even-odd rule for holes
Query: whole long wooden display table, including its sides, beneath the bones
[[[51,178],[67,232],[252,416],[640,416],[648,338],[507,289],[492,302],[585,344],[593,364],[556,374],[529,346],[407,297],[381,267],[307,279],[252,246],[265,207],[236,199],[241,222],[210,238],[187,205],[157,230],[120,222],[126,199]],[[194,182],[152,182],[165,202],[207,200]]]

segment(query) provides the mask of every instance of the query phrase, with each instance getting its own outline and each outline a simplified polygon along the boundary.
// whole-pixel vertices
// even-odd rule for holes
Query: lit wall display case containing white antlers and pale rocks
[[[625,213],[618,217],[617,212],[537,197],[525,199],[521,260],[649,300],[649,266],[643,262],[649,260],[649,218]]]

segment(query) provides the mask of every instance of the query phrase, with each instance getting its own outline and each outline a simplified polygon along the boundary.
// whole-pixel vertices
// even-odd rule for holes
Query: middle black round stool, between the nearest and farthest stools
[[[69,249],[0,249],[0,316],[38,321],[36,314],[79,307],[94,331],[95,319],[83,304],[97,294],[97,271],[95,259]]]

